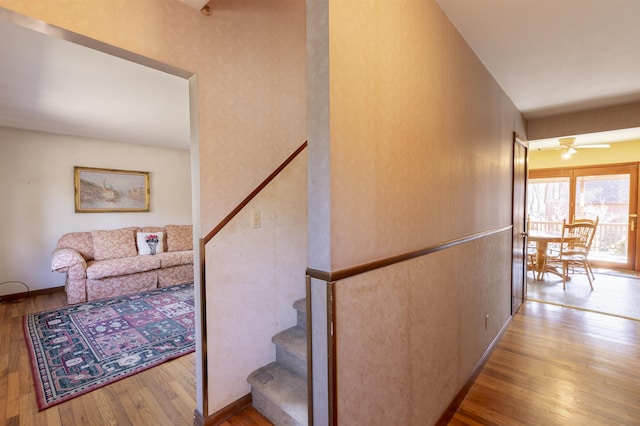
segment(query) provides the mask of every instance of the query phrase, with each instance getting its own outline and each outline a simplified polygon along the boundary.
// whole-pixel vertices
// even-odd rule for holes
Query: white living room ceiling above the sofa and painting
[[[182,77],[1,19],[0,58],[0,126],[190,147]]]

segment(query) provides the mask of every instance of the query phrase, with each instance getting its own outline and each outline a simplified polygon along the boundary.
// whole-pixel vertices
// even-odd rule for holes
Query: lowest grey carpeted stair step
[[[277,362],[249,375],[253,406],[278,426],[307,425],[307,382]]]

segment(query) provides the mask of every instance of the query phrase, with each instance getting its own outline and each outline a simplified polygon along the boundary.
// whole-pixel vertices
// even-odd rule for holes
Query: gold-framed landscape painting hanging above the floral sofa
[[[149,172],[73,168],[76,213],[148,212]]]

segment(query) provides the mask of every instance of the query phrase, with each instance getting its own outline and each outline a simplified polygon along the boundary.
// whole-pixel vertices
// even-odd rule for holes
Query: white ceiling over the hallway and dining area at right
[[[640,0],[436,1],[527,118],[640,101]]]

